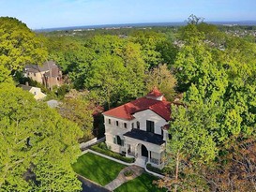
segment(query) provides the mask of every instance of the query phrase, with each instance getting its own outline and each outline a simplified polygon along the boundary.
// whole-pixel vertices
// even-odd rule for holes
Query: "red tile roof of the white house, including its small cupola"
[[[150,92],[149,94],[151,95],[151,93],[152,92]],[[153,94],[154,96],[162,96],[159,91]],[[166,101],[164,97],[162,100],[157,100],[144,96],[136,100],[130,101],[125,105],[114,108],[110,111],[105,111],[103,112],[103,114],[116,118],[131,120],[134,119],[134,117],[132,116],[134,113],[144,110],[154,111],[166,121],[171,120],[171,103]]]

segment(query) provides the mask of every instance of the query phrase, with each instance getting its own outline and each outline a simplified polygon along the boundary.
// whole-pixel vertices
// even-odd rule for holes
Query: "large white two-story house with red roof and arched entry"
[[[147,96],[103,112],[106,144],[113,152],[162,169],[171,103],[154,89]]]

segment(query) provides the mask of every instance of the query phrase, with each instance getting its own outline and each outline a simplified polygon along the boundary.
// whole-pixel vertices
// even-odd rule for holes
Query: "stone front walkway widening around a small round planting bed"
[[[133,174],[131,176],[126,177],[124,173],[128,170],[133,171]],[[105,185],[104,187],[107,188],[110,191],[113,191],[118,186],[128,182],[129,180],[135,179],[136,177],[140,176],[143,173],[143,168],[139,166],[128,166],[127,168],[121,170],[118,174],[118,176],[108,185]]]

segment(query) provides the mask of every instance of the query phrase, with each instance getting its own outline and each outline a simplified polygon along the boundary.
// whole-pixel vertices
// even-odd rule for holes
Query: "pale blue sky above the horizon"
[[[256,0],[0,0],[0,16],[31,29],[141,22],[256,21]]]

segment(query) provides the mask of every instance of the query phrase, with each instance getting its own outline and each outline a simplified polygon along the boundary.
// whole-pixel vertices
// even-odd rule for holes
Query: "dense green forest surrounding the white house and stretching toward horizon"
[[[92,137],[92,113],[155,86],[169,101],[182,96],[158,185],[255,191],[256,44],[236,30],[192,15],[180,27],[36,34],[0,18],[0,191],[80,191],[70,164],[79,140]],[[62,101],[57,111],[16,87],[23,66],[48,60],[66,77],[53,91],[42,87]]]

